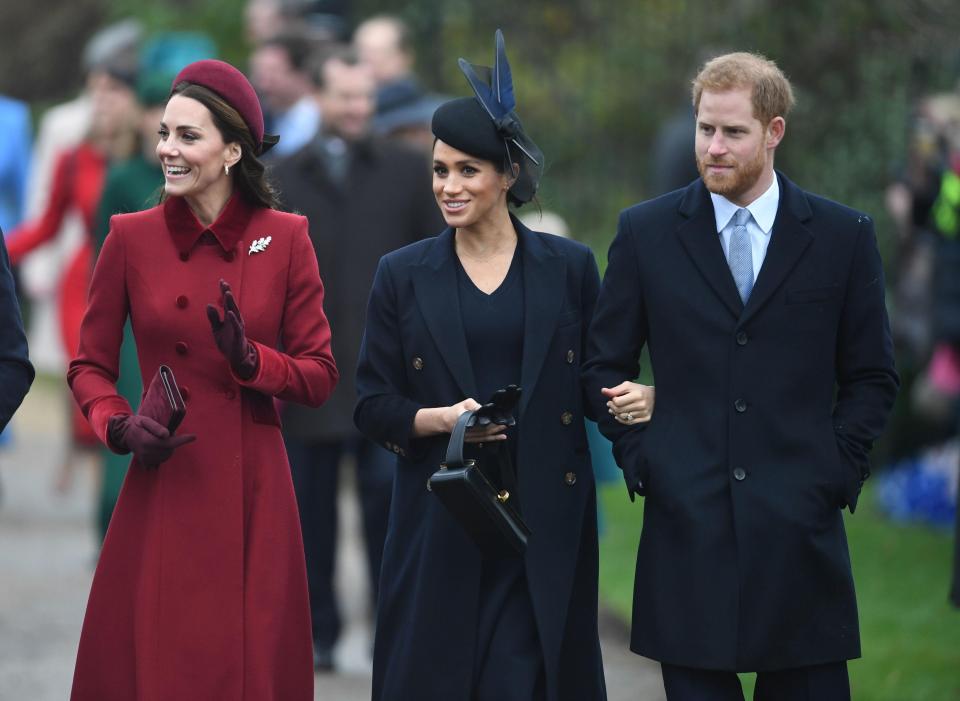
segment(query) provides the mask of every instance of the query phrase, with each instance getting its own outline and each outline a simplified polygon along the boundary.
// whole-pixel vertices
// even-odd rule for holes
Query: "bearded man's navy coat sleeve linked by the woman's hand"
[[[642,494],[645,426],[623,426],[607,413],[603,387],[614,387],[640,374],[640,352],[647,341],[647,314],[634,233],[628,212],[620,215],[610,245],[607,271],[587,337],[583,384],[600,432],[613,443],[630,499]]]

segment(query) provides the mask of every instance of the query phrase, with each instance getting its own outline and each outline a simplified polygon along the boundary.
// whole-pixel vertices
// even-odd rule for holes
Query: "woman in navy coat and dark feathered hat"
[[[513,105],[461,65],[477,99],[433,118],[433,189],[449,227],[381,259],[357,371],[357,426],[397,454],[373,698],[605,699],[580,389],[597,266],[586,246],[510,214],[508,202],[533,198],[542,154]],[[531,535],[524,555],[498,558],[481,555],[427,483],[459,415],[511,383],[523,388],[517,426],[467,437],[481,464],[506,447],[516,467]]]

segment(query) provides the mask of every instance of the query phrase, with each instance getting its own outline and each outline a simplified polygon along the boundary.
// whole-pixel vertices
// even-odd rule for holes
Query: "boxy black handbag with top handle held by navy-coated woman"
[[[522,554],[530,529],[513,508],[515,497],[494,487],[475,460],[463,458],[463,438],[476,414],[460,414],[450,434],[446,460],[430,477],[430,490],[485,555]]]

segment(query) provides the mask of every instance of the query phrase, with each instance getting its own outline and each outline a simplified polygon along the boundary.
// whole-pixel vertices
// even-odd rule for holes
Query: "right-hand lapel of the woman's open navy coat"
[[[566,260],[513,218],[523,255],[523,362],[519,415],[530,403],[566,296]]]

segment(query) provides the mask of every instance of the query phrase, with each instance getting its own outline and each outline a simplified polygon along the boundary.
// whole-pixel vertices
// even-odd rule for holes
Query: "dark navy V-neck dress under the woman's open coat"
[[[460,317],[470,363],[484,403],[498,389],[520,384],[523,362],[523,264],[519,245],[500,286],[487,294],[457,265]],[[481,466],[508,459],[516,466],[519,424],[507,429],[506,443],[470,446]],[[493,470],[495,481],[503,475]],[[501,486],[506,486],[501,484]],[[511,491],[516,485],[510,485]],[[519,500],[519,494],[516,498]],[[480,565],[474,647],[474,693],[479,701],[538,701],[544,696],[543,653],[523,559],[484,558]]]

